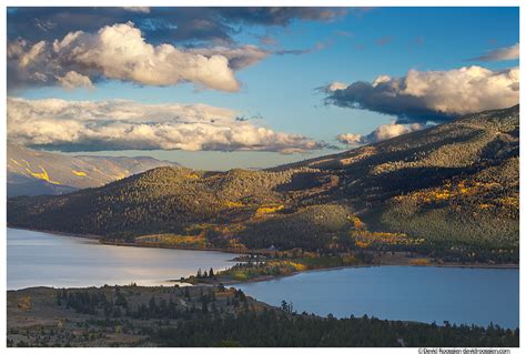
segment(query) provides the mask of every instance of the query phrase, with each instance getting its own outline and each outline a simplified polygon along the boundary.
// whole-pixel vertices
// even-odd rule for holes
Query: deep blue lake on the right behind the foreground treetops
[[[301,273],[239,287],[272,305],[336,317],[518,326],[518,270],[372,266]]]

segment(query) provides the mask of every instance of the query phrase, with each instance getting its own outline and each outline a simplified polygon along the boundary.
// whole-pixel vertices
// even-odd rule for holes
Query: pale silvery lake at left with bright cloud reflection
[[[8,229],[8,290],[29,286],[170,284],[198,269],[232,266],[235,254],[114,246],[97,240]],[[172,283],[173,285],[173,283]]]

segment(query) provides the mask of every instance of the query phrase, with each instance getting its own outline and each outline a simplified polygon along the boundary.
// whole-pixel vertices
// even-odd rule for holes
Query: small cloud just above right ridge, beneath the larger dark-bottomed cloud
[[[378,125],[374,131],[367,135],[345,133],[336,136],[336,140],[342,144],[346,145],[364,145],[373,144],[375,142],[395,138],[398,135],[407,134],[417,130],[424,129],[425,125],[413,123],[413,124],[396,124],[391,122],[390,124]]]

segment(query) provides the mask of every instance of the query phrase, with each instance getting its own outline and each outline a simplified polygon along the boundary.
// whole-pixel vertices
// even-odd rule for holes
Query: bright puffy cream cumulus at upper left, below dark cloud
[[[199,88],[237,91],[235,70],[264,59],[267,53],[254,45],[240,48],[180,49],[172,44],[146,42],[132,22],[105,26],[94,33],[69,32],[52,43],[34,44],[20,39],[8,43],[13,84],[34,82],[34,73],[64,78],[69,72],[95,79],[131,81],[145,85],[174,85],[192,82]]]

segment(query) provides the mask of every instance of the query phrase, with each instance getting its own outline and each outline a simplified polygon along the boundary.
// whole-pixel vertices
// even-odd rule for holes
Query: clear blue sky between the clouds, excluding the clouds
[[[38,18],[39,12],[34,11],[28,16],[34,19]],[[42,19],[45,16],[42,16]],[[136,23],[138,19],[134,16],[135,12],[130,11],[129,20],[140,27],[140,22]],[[155,18],[153,11],[151,16]],[[13,17],[8,13],[9,40],[26,36],[32,37],[31,43],[38,42],[39,33],[33,33],[38,30],[31,33],[20,33],[14,26],[10,29],[11,18],[13,23],[23,19],[22,16]],[[115,17],[115,23],[123,23],[125,18],[125,12],[119,14]],[[91,89],[67,90],[58,84],[24,83],[20,88],[11,90],[9,95],[26,100],[54,98],[68,101],[108,101],[125,99],[155,104],[205,103],[234,110],[236,115],[247,118],[247,122],[257,127],[266,127],[276,132],[301,134],[312,141],[325,142],[316,149],[306,149],[301,153],[292,154],[283,153],[276,148],[272,148],[270,151],[237,151],[251,150],[250,146],[201,149],[208,151],[184,151],[184,149],[162,151],[161,149],[144,150],[138,145],[140,149],[127,148],[123,150],[120,146],[90,152],[153,155],[199,169],[265,168],[333,153],[334,146],[352,148],[352,145],[342,144],[342,139],[338,142],[336,140],[338,134],[360,134],[362,141],[365,141],[363,136],[373,132],[378,125],[388,124],[394,120],[402,123],[403,114],[384,114],[392,112],[392,110],[371,107],[371,102],[367,103],[368,105],[361,102],[360,99],[356,99],[355,91],[352,91],[352,95],[350,95],[351,91],[337,91],[336,93],[341,94],[335,99],[336,95],[333,94],[333,91],[324,89],[332,82],[344,82],[347,85],[357,81],[373,82],[378,75],[404,78],[409,70],[445,72],[469,65],[481,65],[490,70],[493,75],[493,72],[518,67],[518,55],[510,60],[509,58],[505,58],[506,60],[495,58],[490,61],[469,59],[482,57],[493,50],[509,49],[517,44],[518,26],[517,8],[376,8],[367,11],[347,10],[345,14],[338,13],[330,20],[312,20],[308,16],[292,17],[290,22],[277,26],[243,20],[233,24],[235,31],[230,32],[229,42],[221,42],[221,47],[234,48],[252,44],[272,53],[235,71],[235,78],[241,83],[241,89],[236,92],[210,88],[196,89],[192,82],[178,82],[160,87],[125,79],[101,79],[99,74],[97,78],[92,78],[93,87]],[[71,28],[70,30],[90,32],[91,29]],[[52,37],[49,36],[47,31],[42,31],[42,39],[51,42]],[[173,40],[166,37],[164,41],[162,37],[159,38],[154,33],[149,37],[143,32],[143,36],[145,41],[152,44],[168,42],[175,48],[218,45],[218,40],[203,41],[192,38]],[[261,38],[266,38],[266,43],[262,43]],[[29,50],[30,45],[27,44],[26,50]],[[277,54],[276,52],[280,50],[310,50],[310,52]],[[493,91],[488,89],[488,92]],[[361,94],[362,92],[358,95],[361,97]],[[518,103],[518,89],[516,94]],[[327,98],[331,98],[330,102],[326,101]],[[500,101],[495,102],[497,103],[494,104],[500,104]],[[507,98],[502,104],[509,102],[513,103],[513,97]],[[348,108],[350,104],[357,104],[358,109]],[[426,101],[425,104],[427,104],[425,107],[427,111],[436,112],[436,109],[431,108],[431,103]],[[473,110],[476,108],[475,105]],[[485,108],[481,107],[481,109]],[[399,112],[398,105],[396,110]],[[448,111],[438,112],[442,114],[439,119],[447,120],[464,113],[458,111],[457,114],[457,111],[452,108]],[[421,111],[418,110],[418,112]],[[426,114],[422,115],[426,117],[425,120],[418,120],[414,118],[414,113],[411,114],[412,121],[405,123],[427,124],[434,120],[428,119]],[[18,134],[22,133],[18,132]],[[9,135],[10,130],[8,129],[8,139]],[[20,141],[37,141],[31,140],[34,136],[17,136]],[[37,145],[34,143],[28,144]],[[60,144],[43,145],[49,150],[60,150],[57,146]],[[229,152],[224,152],[225,150]],[[75,153],[82,152],[75,151]]]

